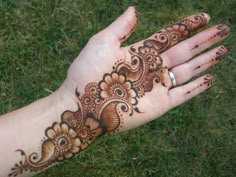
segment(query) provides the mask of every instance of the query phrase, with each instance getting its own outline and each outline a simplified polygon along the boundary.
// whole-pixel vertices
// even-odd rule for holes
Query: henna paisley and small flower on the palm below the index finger
[[[163,66],[163,60],[153,46],[146,46],[144,42],[137,50],[131,47],[130,53],[130,63],[118,61],[113,68],[115,72],[121,73],[131,81],[138,98],[152,90],[153,81],[165,86],[164,74],[167,67]]]

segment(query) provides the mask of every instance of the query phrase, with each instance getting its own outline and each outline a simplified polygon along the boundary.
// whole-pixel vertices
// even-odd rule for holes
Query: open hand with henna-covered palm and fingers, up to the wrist
[[[89,124],[100,127],[97,135],[116,133],[149,122],[205,91],[214,82],[212,75],[183,84],[225,57],[224,46],[196,55],[225,39],[229,28],[216,25],[180,41],[209,19],[205,13],[195,14],[120,47],[137,25],[137,13],[130,7],[93,36],[71,65],[65,85],[72,95],[77,91],[79,117],[70,111],[65,117],[85,122],[92,117]]]

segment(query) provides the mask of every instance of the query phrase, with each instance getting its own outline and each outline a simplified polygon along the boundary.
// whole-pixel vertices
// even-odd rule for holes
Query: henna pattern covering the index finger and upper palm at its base
[[[167,67],[163,66],[163,60],[158,54],[175,45],[197,27],[202,27],[206,23],[207,20],[203,13],[196,14],[193,18],[178,21],[154,34],[154,39],[145,40],[143,46],[138,47],[138,49],[131,46],[131,63],[123,61],[119,63],[118,61],[113,70],[124,74],[133,83],[138,98],[144,96],[145,92],[152,90],[153,81],[166,86],[163,76],[167,72]]]

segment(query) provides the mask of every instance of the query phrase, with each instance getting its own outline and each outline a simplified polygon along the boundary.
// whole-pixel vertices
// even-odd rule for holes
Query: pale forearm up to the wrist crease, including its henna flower
[[[51,95],[1,117],[2,136],[9,139],[4,142],[6,146],[0,148],[9,149],[6,153],[9,161],[0,161],[7,167],[6,173],[10,168],[9,176],[17,175],[19,171],[37,173],[86,148],[88,143],[80,135],[87,135],[79,114],[75,93],[62,84]],[[12,168],[12,164],[17,166]]]

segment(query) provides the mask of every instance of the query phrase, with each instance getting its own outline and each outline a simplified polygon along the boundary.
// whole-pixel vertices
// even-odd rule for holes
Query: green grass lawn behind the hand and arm
[[[210,25],[229,25],[229,56],[207,71],[215,86],[37,176],[236,176],[235,0],[0,0],[0,114],[55,91],[88,39],[129,5],[137,7],[139,25],[126,44],[200,11],[211,15]]]

